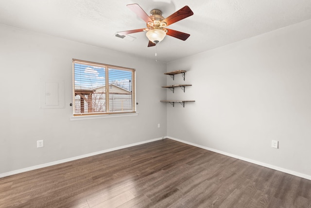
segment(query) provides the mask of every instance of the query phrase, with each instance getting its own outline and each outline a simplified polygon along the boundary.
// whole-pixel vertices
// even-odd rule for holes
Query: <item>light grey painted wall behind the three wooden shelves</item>
[[[311,176],[310,37],[308,20],[169,63],[193,86],[167,98],[195,103],[168,104],[168,135]]]

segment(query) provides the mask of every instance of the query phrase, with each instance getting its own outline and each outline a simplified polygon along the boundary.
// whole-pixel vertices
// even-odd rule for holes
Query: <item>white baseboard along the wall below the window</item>
[[[76,156],[76,157],[70,157],[70,158],[63,159],[63,160],[58,160],[58,161],[54,161],[54,162],[50,162],[50,163],[45,163],[45,164],[41,164],[41,165],[32,166],[32,167],[29,167],[29,168],[23,168],[23,169],[19,169],[19,170],[13,170],[13,171],[10,171],[10,172],[4,172],[4,173],[0,173],[0,178],[6,177],[6,176],[10,176],[10,175],[15,175],[15,174],[22,173],[22,172],[27,172],[27,171],[30,171],[30,170],[36,170],[36,169],[45,168],[45,167],[49,167],[49,166],[53,166],[53,165],[58,165],[58,164],[61,164],[61,163],[66,163],[66,162],[70,162],[70,161],[73,161],[73,160],[78,160],[78,159],[94,156],[94,155],[97,155],[97,154],[106,153],[106,152],[109,152],[109,151],[116,151],[116,150],[121,150],[121,149],[124,149],[124,148],[133,147],[133,146],[137,146],[137,145],[141,145],[141,144],[145,144],[145,143],[149,143],[149,142],[154,142],[154,141],[157,141],[157,140],[161,140],[163,138],[166,138],[166,136],[155,138],[155,139],[150,139],[150,140],[147,140],[147,141],[137,142],[137,143],[133,143],[133,144],[129,144],[129,145],[124,145],[124,146],[121,146],[121,147],[111,148],[111,149],[108,149],[108,150],[96,151],[96,152],[92,152],[92,153],[88,153],[88,154],[83,154],[83,155]]]

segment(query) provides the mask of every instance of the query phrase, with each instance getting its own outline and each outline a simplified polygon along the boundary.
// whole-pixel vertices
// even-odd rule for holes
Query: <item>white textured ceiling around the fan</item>
[[[164,18],[185,5],[193,11],[193,16],[168,26],[190,37],[182,41],[166,36],[157,45],[157,59],[162,62],[311,19],[311,0],[0,0],[0,24],[155,58],[155,47],[147,47],[145,32],[131,34],[133,41],[114,36],[145,27],[126,7],[131,3],[138,3],[147,14],[160,9]]]

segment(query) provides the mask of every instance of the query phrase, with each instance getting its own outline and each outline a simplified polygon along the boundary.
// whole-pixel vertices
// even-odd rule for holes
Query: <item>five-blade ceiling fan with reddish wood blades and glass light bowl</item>
[[[166,35],[181,40],[186,40],[190,36],[190,34],[166,28],[170,24],[193,15],[189,6],[184,6],[165,19],[162,17],[162,12],[159,9],[151,10],[150,16],[148,16],[137,3],[128,4],[126,6],[147,23],[147,28],[117,32],[120,36],[147,31],[146,36],[149,39],[148,47],[155,46],[157,43],[161,42]]]

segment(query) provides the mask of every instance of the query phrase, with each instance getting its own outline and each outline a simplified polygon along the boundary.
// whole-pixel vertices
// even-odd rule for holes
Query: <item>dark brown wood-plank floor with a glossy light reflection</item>
[[[311,208],[311,181],[170,139],[0,178],[0,208]]]

